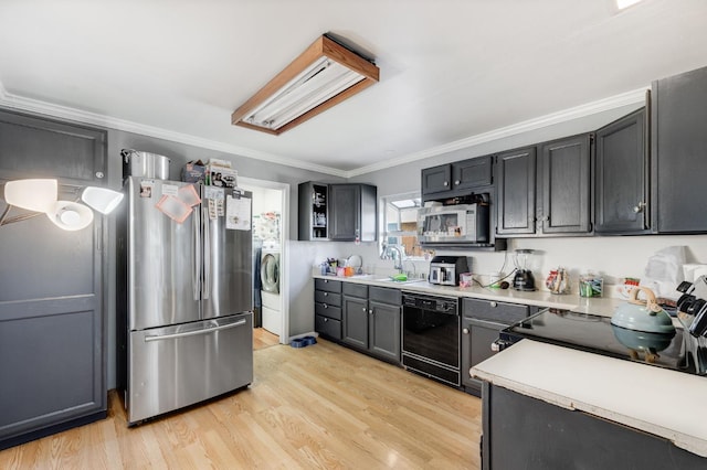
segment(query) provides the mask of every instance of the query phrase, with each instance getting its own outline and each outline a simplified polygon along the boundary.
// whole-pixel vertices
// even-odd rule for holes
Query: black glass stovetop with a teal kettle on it
[[[688,334],[688,333],[686,333]],[[545,309],[500,332],[514,343],[523,338],[611,357],[695,373],[686,359],[683,330],[675,334],[644,333],[611,324],[611,318],[571,310]]]

